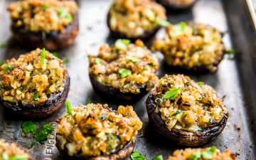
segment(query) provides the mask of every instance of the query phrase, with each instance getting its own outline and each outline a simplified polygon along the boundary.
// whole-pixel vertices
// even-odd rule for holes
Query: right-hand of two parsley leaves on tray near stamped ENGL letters
[[[51,124],[44,124],[41,131],[36,132],[35,139],[37,142],[44,142],[48,138],[48,135],[53,132],[53,125]]]

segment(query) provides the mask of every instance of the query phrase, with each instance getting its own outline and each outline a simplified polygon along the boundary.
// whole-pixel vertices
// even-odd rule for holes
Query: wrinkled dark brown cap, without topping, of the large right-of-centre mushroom
[[[151,92],[154,92],[154,90]],[[160,113],[155,112],[156,107],[157,105],[155,105],[154,96],[149,94],[149,97],[146,100],[146,109],[149,115],[149,122],[154,131],[162,137],[170,139],[171,141],[176,142],[176,144],[183,146],[202,146],[207,144],[218,137],[218,135],[223,131],[228,120],[228,114],[226,114],[218,124],[215,124],[213,127],[203,129],[202,132],[188,132],[179,129],[171,129],[170,131],[161,119]]]

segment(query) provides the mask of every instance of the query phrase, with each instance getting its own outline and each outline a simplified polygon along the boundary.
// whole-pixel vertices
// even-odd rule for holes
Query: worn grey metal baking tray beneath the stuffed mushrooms
[[[6,11],[10,2],[0,0],[0,43],[8,44],[0,50],[1,60],[18,57],[21,53],[29,51],[17,46],[11,40],[9,14]],[[71,85],[68,100],[73,106],[85,104],[88,98],[92,102],[108,103],[114,108],[118,105],[105,101],[92,90],[87,70],[87,54],[97,54],[100,45],[114,42],[109,36],[106,24],[107,10],[111,2],[110,0],[78,1],[80,34],[74,46],[60,52],[61,56],[69,60],[67,68]],[[235,58],[225,57],[217,73],[190,76],[194,80],[204,81],[213,86],[218,95],[225,95],[225,105],[230,115],[223,133],[207,146],[215,145],[222,150],[230,148],[241,160],[256,159],[256,33],[251,18],[247,3],[242,0],[198,0],[188,11],[175,13],[169,11],[171,23],[196,21],[215,26],[225,32],[225,45],[238,50]],[[161,55],[159,58],[162,58]],[[160,76],[173,73],[176,72],[166,70],[161,65]],[[156,154],[163,154],[166,159],[175,149],[181,149],[182,146],[176,146],[151,135],[145,100],[146,96],[134,104],[137,114],[144,122],[144,128],[137,137],[136,149],[149,159]],[[65,112],[64,108],[47,119],[37,120],[36,124],[50,122],[55,125],[55,119],[63,112]],[[15,119],[10,115],[7,117],[0,106],[0,138],[17,142],[28,148],[31,145],[31,137],[22,134],[21,124],[22,119]],[[50,135],[45,144],[36,144],[30,150],[37,160],[63,159],[55,148],[55,134]]]

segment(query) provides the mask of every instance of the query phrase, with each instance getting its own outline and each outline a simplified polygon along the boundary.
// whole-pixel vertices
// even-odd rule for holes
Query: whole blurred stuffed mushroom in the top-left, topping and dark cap
[[[70,0],[23,0],[12,2],[11,31],[18,43],[30,48],[60,50],[78,35],[78,5]]]

